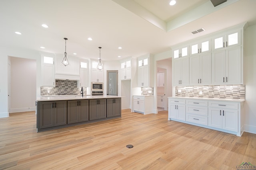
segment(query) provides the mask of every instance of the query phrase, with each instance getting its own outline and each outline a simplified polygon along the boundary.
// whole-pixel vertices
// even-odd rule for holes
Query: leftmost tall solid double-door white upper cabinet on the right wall
[[[189,58],[174,60],[172,65],[172,85],[187,86],[189,85]]]

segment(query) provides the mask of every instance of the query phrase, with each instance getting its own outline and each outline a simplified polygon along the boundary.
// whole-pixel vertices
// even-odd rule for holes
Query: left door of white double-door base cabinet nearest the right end
[[[222,110],[215,107],[208,108],[208,126],[222,129]]]

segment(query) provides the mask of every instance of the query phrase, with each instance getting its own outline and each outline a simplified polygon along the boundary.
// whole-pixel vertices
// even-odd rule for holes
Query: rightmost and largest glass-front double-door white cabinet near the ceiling
[[[241,30],[235,30],[226,34],[215,36],[212,39],[212,50],[225,49],[241,45]]]

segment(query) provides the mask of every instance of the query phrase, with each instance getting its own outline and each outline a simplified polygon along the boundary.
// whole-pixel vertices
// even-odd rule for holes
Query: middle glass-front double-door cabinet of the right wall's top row
[[[210,43],[211,43],[210,39],[192,43],[190,45],[190,54],[189,55],[191,56],[191,55],[197,55],[197,54],[210,52],[211,51]]]

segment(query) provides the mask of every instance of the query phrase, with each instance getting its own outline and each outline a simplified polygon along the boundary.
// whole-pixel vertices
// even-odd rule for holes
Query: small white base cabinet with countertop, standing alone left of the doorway
[[[133,111],[142,114],[153,113],[154,96],[133,96]]]

